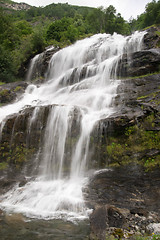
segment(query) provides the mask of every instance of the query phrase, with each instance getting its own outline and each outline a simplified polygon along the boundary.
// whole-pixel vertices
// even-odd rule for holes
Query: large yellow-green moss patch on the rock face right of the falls
[[[155,127],[156,118],[150,114],[141,124],[127,127],[123,136],[110,137],[106,147],[109,166],[135,162],[146,170],[160,167],[160,154],[157,151],[160,149],[160,132]],[[153,154],[147,155],[148,152]]]

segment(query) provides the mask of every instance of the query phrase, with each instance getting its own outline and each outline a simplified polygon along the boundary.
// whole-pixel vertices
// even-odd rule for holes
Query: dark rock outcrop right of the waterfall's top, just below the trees
[[[143,51],[134,52],[128,56],[124,54],[118,66],[118,76],[135,77],[159,72],[160,35],[159,28],[150,28],[144,36]]]

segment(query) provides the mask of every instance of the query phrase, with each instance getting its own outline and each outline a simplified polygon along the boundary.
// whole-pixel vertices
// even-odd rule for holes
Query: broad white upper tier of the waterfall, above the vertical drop
[[[28,105],[74,105],[101,111],[106,107],[104,98],[112,94],[110,83],[117,78],[119,59],[141,50],[144,35],[97,34],[58,51],[50,60],[46,83],[30,85],[20,101],[1,107],[0,122]]]

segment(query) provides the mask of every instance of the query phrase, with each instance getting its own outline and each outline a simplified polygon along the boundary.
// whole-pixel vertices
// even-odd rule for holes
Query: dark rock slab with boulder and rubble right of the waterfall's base
[[[147,233],[152,233],[151,227],[160,221],[159,176],[159,170],[145,173],[137,165],[97,173],[90,181],[88,193],[94,209],[90,239],[143,235],[146,226]]]

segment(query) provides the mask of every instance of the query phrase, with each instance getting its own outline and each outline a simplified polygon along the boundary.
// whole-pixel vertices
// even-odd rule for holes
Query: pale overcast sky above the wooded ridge
[[[104,8],[113,5],[117,13],[121,13],[125,20],[130,17],[136,18],[145,11],[145,6],[152,0],[13,0],[15,2],[25,2],[31,6],[43,7],[51,3],[67,3],[78,6],[100,7]]]

